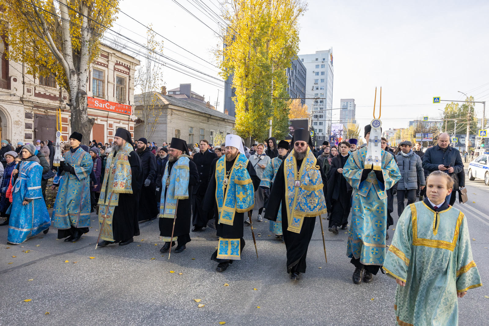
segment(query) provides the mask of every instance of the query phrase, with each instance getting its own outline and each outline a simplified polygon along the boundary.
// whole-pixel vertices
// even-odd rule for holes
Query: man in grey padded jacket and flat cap
[[[418,154],[411,149],[413,144],[410,141],[403,141],[399,144],[400,152],[397,154],[397,162],[400,172],[398,181],[398,216],[404,211],[404,196],[407,195],[407,204],[412,204],[416,200],[416,189],[418,189],[418,178],[421,183],[420,189],[424,189],[424,171],[422,161]]]

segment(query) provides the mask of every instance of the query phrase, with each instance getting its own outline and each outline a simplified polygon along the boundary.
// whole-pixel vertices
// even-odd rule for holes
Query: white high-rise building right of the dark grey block
[[[314,54],[299,54],[307,70],[306,100],[312,113],[313,143],[322,144],[331,131],[333,109],[333,47]]]

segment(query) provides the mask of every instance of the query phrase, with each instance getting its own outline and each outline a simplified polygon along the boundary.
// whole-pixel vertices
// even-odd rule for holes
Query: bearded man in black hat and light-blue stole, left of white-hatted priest
[[[189,154],[186,141],[172,138],[161,178],[163,191],[158,198],[159,232],[165,242],[160,249],[162,253],[173,247],[175,240],[178,240],[175,253],[185,250],[186,244],[191,241],[192,188],[199,183],[199,173]]]

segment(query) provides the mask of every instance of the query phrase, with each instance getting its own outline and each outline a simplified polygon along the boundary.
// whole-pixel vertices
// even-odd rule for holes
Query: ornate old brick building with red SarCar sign
[[[1,43],[1,42],[0,42]],[[37,139],[55,140],[56,111],[62,110],[62,135],[66,141],[72,131],[68,94],[56,85],[54,77],[31,76],[22,63],[7,61],[0,46],[0,135],[1,139],[32,143]],[[139,60],[101,44],[100,56],[90,66],[87,94],[89,117],[95,119],[88,143],[113,140],[115,129],[134,128],[134,71]]]

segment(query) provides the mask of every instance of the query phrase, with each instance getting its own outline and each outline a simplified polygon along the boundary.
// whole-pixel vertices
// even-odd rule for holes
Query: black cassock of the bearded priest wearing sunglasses
[[[275,181],[273,181],[265,218],[276,221],[280,203],[282,203],[282,231],[284,233],[284,242],[287,249],[287,273],[294,271],[305,273],[307,249],[312,238],[312,232],[314,232],[316,217],[303,217],[304,221],[300,233],[287,230],[289,221],[287,216],[287,201],[285,200],[286,185],[284,162],[285,160],[280,164],[275,176]],[[302,160],[297,160],[297,171],[300,170],[301,165]],[[323,169],[319,169],[318,171],[321,172],[321,178],[323,179],[323,193],[326,197],[326,193],[328,192],[326,175],[324,174]]]

